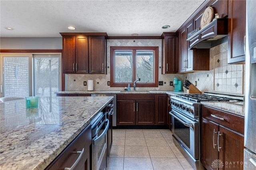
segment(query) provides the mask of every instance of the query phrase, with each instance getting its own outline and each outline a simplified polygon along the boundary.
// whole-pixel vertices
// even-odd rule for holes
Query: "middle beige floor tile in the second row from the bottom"
[[[146,146],[125,146],[125,158],[150,158],[148,147]]]

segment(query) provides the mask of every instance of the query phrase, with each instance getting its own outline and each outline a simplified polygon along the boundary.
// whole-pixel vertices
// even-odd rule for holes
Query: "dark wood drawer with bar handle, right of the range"
[[[202,117],[244,134],[244,117],[233,115],[207,106],[202,106]]]

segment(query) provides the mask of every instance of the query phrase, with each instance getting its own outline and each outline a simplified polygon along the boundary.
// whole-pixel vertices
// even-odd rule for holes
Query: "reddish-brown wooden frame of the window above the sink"
[[[116,50],[131,50],[132,56],[133,56],[133,62],[132,62],[132,82],[125,82],[125,83],[117,83],[114,82],[115,80],[115,51]],[[158,47],[157,46],[111,46],[110,47],[110,87],[126,87],[128,86],[128,83],[130,83],[130,86],[133,86],[133,82],[136,80],[136,61],[134,56],[136,57],[136,51],[140,50],[151,50],[154,51],[154,81],[150,83],[136,83],[136,87],[158,87]]]

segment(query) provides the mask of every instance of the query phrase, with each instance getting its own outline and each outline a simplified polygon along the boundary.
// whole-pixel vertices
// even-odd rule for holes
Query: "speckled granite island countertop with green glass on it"
[[[0,103],[0,169],[43,170],[113,97],[39,97]]]

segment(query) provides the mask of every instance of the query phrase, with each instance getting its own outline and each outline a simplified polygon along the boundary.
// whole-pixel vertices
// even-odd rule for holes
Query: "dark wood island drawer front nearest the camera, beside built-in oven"
[[[83,166],[87,157],[86,152],[90,152],[90,145],[92,143],[92,130],[91,125],[86,127],[82,133],[78,135],[69,145],[64,149],[55,160],[46,168],[46,170],[62,170],[70,168],[78,159],[81,153],[74,153],[76,151],[84,152],[76,167]]]

